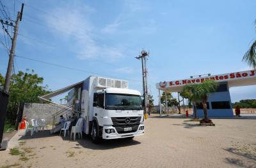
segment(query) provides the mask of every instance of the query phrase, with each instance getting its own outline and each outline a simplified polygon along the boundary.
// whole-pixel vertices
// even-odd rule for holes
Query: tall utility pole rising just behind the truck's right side
[[[148,108],[148,87],[147,87],[147,56],[148,53],[144,50],[141,51],[141,54],[136,59],[141,59],[141,67],[142,67],[142,81],[143,81],[143,97],[144,97],[144,114],[147,114]]]

